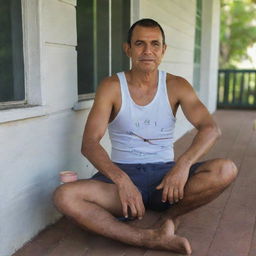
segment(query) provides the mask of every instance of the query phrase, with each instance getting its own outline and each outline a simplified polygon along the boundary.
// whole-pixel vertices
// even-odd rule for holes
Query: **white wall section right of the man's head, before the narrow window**
[[[167,51],[160,69],[193,81],[196,1],[142,0],[140,18],[157,20],[165,31]],[[181,109],[177,113],[175,139],[192,128]]]

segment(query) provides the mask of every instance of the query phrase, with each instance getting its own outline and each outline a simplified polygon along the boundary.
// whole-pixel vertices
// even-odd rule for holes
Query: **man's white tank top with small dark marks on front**
[[[128,89],[124,72],[120,81],[122,105],[108,131],[111,160],[116,163],[156,163],[173,161],[176,118],[169,103],[166,72],[158,71],[158,87],[153,100],[137,105]]]

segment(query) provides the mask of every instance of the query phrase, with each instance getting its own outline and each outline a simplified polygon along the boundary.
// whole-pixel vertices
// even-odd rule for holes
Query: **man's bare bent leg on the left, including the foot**
[[[172,220],[157,229],[140,229],[120,222],[122,207],[115,184],[80,180],[60,186],[54,193],[60,212],[82,227],[121,242],[152,249],[191,253],[187,239],[174,235]]]

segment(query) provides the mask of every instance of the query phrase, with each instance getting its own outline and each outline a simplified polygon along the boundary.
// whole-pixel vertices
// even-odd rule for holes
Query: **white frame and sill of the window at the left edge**
[[[47,114],[41,87],[40,0],[21,0],[25,100],[0,104],[0,123]]]

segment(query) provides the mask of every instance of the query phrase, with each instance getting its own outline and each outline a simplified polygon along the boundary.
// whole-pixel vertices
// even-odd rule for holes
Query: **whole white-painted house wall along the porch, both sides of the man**
[[[51,202],[59,171],[72,169],[80,178],[95,172],[80,153],[92,101],[78,103],[76,0],[23,1],[29,10],[23,14],[27,93],[29,102],[39,106],[0,111],[1,256],[11,255],[60,216]],[[218,0],[212,1],[216,11]],[[133,0],[133,8],[132,21],[152,17],[163,25],[168,50],[161,68],[192,82],[195,0]],[[217,26],[218,16],[212,17],[209,26]],[[213,47],[209,58],[215,55]],[[214,77],[214,61],[210,68]],[[209,78],[208,83],[215,82]],[[206,96],[212,90],[200,93],[214,109],[214,101]],[[190,128],[181,112],[177,117],[176,138]],[[109,152],[107,135],[102,144]]]

